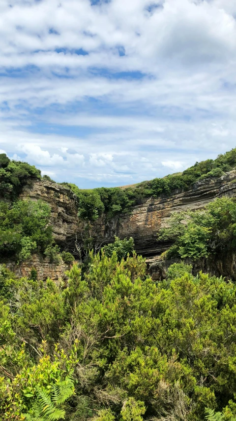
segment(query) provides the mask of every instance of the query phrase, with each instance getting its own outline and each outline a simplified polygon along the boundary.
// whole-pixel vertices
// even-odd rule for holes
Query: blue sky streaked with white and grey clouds
[[[80,188],[236,147],[235,0],[1,0],[0,153]]]

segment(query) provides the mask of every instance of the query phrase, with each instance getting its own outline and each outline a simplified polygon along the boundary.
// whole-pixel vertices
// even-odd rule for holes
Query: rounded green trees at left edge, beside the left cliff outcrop
[[[29,259],[53,243],[50,206],[42,200],[18,200],[13,206],[0,201],[0,254]]]

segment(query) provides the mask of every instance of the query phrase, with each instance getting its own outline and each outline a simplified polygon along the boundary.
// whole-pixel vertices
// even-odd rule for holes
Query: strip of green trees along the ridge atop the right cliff
[[[196,162],[182,173],[144,181],[126,189],[102,187],[94,190],[81,190],[75,184],[62,184],[70,187],[77,195],[79,215],[83,219],[88,218],[90,221],[95,221],[102,212],[106,213],[107,218],[120,212],[129,212],[132,206],[141,204],[147,197],[169,195],[177,189],[187,190],[201,179],[220,177],[235,167],[236,149],[232,149],[224,155],[218,155],[215,160],[207,159]]]

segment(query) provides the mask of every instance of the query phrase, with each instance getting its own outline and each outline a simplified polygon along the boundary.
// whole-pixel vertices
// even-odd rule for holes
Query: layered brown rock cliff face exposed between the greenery
[[[202,209],[215,197],[224,195],[236,196],[235,170],[218,179],[200,180],[188,191],[175,191],[169,196],[163,195],[158,198],[150,197],[141,205],[134,206],[130,214],[121,214],[110,220],[106,215],[102,215],[94,226],[94,237],[98,243],[106,244],[114,240],[114,235],[120,238],[132,236],[137,253],[147,258],[153,277],[159,277],[164,273],[163,269],[161,275],[159,256],[170,243],[157,241],[158,230],[168,225],[173,212]],[[62,185],[36,180],[22,191],[21,198],[27,197],[33,200],[42,199],[50,204],[55,240],[62,248],[73,251],[76,233],[78,238],[81,237],[84,227],[77,216],[76,196]],[[43,262],[40,265],[42,266]],[[205,262],[206,265],[209,265],[209,262]]]

